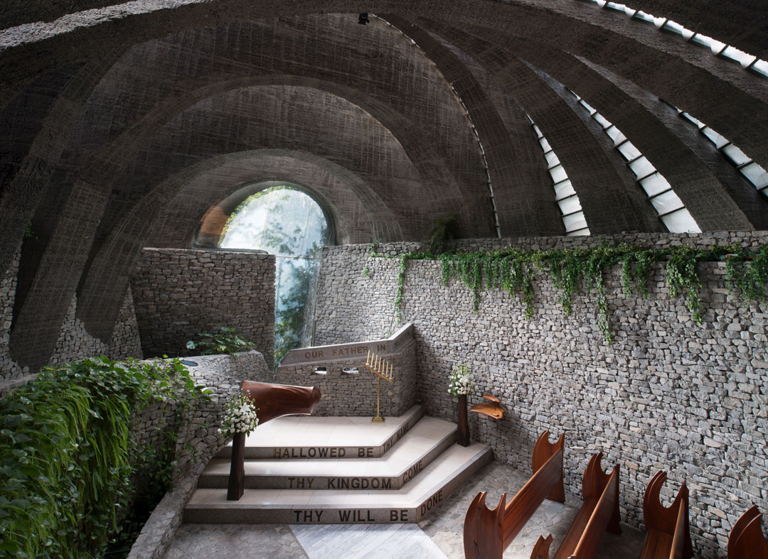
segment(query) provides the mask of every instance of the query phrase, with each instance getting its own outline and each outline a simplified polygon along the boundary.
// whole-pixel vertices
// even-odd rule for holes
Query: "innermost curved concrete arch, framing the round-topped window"
[[[286,160],[290,159],[304,164],[303,169],[300,166],[286,168]],[[343,184],[346,187],[344,192],[333,192],[323,185],[312,188],[323,204],[333,209],[336,222],[345,224],[353,221],[355,215],[346,215],[349,211],[346,208],[351,207],[353,212],[362,212],[368,217],[370,235],[382,235],[380,238],[386,240],[402,238],[398,219],[376,192],[354,173],[327,159],[290,150],[250,150],[216,156],[165,179],[116,224],[107,242],[101,245],[91,261],[78,292],[78,318],[94,334],[111,332],[121,306],[117,294],[126,290],[141,248],[147,242],[180,246],[168,243],[167,235],[163,234],[163,230],[168,228],[161,224],[167,223],[171,229],[178,229],[180,221],[186,222],[180,230],[184,231],[184,238],[189,241],[204,212],[242,188],[243,182],[290,177],[309,186],[312,173],[308,173],[308,169],[314,170],[316,176],[321,178],[336,179],[333,186]],[[352,200],[346,199],[349,197]],[[181,211],[164,219],[162,215],[169,208]],[[182,246],[188,246],[187,242]]]

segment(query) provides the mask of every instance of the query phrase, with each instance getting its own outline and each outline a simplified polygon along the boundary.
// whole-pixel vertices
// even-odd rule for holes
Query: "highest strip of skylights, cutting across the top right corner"
[[[626,14],[632,19],[637,21],[644,21],[648,24],[653,24],[657,29],[661,31],[667,31],[668,33],[674,33],[680,35],[689,43],[698,44],[702,47],[709,48],[712,54],[725,58],[727,60],[738,62],[741,67],[746,70],[752,71],[755,74],[768,77],[768,62],[757,58],[753,54],[747,54],[744,51],[740,51],[738,48],[731,47],[717,39],[707,37],[707,35],[701,35],[696,31],[684,28],[677,21],[672,21],[667,18],[657,18],[654,15],[647,14],[641,10],[635,10],[633,8],[627,8],[627,5],[620,4],[618,2],[606,2],[606,0],[584,0],[584,2],[591,2],[597,4],[601,8],[614,10],[615,12],[621,12]]]

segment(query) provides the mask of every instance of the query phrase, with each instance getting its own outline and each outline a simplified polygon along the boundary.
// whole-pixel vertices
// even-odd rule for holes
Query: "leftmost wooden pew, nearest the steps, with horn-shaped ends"
[[[464,554],[467,559],[501,559],[506,547],[545,498],[565,501],[564,444],[564,435],[551,444],[549,432],[541,433],[533,447],[533,475],[508,504],[505,505],[506,493],[493,510],[485,505],[485,492],[475,496],[464,519]]]

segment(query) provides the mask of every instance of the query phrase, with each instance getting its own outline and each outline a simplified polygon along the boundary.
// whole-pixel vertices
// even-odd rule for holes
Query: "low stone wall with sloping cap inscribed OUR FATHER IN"
[[[323,398],[315,415],[375,415],[377,377],[364,366],[368,351],[392,364],[392,383],[380,381],[381,414],[406,413],[416,399],[416,345],[412,325],[386,340],[292,350],[277,367],[275,382],[317,386]],[[324,367],[325,373],[315,373],[318,367]],[[357,373],[345,372],[345,369],[356,369]]]

